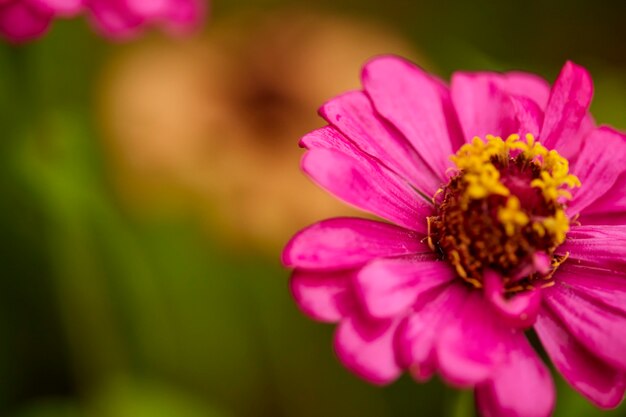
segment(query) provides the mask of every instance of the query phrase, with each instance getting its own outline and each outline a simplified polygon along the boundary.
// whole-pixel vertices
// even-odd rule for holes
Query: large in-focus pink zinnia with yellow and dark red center
[[[592,81],[567,63],[531,74],[456,73],[450,86],[396,57],[363,91],[326,103],[303,170],[388,222],[324,220],[283,262],[335,350],[377,384],[408,370],[474,388],[484,416],[551,414],[529,343],[601,408],[626,388],[626,137],[596,127]],[[392,224],[393,223],[393,224]]]

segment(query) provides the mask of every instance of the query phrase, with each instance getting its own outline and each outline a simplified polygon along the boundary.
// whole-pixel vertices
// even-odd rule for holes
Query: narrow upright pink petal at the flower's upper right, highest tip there
[[[587,117],[593,82],[586,69],[572,62],[563,66],[545,111],[541,142],[566,158],[580,152],[580,129]]]

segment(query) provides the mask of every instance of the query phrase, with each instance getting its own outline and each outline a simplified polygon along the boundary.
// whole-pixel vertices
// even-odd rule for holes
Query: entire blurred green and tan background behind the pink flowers
[[[388,52],[444,78],[553,80],[572,59],[625,129],[609,3],[213,0],[191,38],[111,44],[74,19],[0,45],[0,415],[474,415],[437,380],[362,382],[294,306],[282,245],[351,213],[299,172],[297,141]],[[556,416],[626,415],[557,384]]]

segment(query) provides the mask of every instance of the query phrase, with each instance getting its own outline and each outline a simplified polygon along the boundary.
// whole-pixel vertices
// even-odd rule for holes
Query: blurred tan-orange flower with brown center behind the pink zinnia
[[[212,23],[202,38],[133,45],[100,86],[116,189],[137,214],[199,214],[231,243],[275,253],[299,228],[355,215],[299,171],[317,108],[359,88],[381,53],[415,59],[383,28],[283,11]],[[358,215],[358,214],[357,214]]]

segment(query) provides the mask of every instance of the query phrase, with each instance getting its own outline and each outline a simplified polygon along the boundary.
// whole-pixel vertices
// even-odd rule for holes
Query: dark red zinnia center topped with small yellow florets
[[[451,157],[458,172],[433,198],[428,243],[476,288],[487,268],[504,277],[509,293],[550,285],[565,260],[554,250],[570,226],[566,188],[580,181],[531,134],[486,139],[474,138]]]

